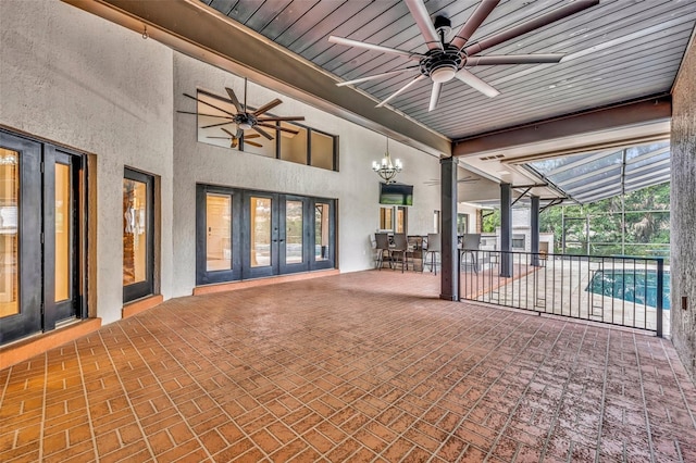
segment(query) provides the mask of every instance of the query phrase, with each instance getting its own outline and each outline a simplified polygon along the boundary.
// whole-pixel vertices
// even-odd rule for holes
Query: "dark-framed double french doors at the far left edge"
[[[0,130],[0,345],[86,316],[83,158]]]

